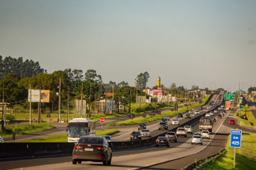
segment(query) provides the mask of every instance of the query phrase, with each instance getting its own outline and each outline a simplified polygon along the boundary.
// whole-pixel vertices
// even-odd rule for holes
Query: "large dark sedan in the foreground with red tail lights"
[[[104,137],[84,136],[75,144],[72,153],[72,164],[82,161],[103,162],[111,165],[112,150]]]

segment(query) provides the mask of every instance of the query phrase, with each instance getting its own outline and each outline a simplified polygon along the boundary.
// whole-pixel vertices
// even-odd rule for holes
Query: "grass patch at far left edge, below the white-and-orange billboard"
[[[2,137],[11,137],[13,132],[16,135],[20,134],[31,134],[37,131],[45,131],[51,128],[56,128],[53,125],[48,125],[47,123],[31,124],[31,125],[6,125],[4,130],[0,130]]]

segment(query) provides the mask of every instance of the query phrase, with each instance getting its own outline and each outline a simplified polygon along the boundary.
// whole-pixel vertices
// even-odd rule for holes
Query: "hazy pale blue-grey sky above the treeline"
[[[0,1],[0,55],[105,83],[256,86],[256,1]],[[213,85],[214,86],[214,85]]]

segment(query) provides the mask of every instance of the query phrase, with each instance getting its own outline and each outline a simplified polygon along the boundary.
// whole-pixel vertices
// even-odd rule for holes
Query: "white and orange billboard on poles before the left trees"
[[[39,102],[41,95],[41,102],[50,102],[50,91],[49,90],[34,90],[31,89],[31,99],[30,90],[28,90],[28,102]]]

